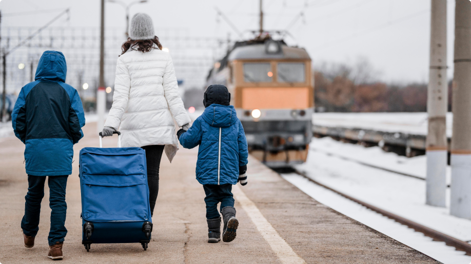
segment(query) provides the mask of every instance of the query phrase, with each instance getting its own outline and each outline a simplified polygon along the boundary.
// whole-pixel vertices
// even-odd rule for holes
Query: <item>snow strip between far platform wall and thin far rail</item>
[[[309,145],[312,151],[337,156],[352,161],[358,161],[371,166],[381,167],[392,171],[406,173],[425,179],[427,158],[425,155],[406,158],[396,153],[384,152],[380,147],[363,147],[355,144],[345,144],[330,137],[316,139]],[[446,168],[447,184],[451,182],[452,169]]]

